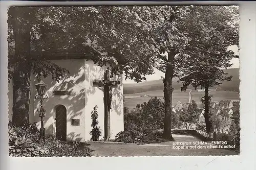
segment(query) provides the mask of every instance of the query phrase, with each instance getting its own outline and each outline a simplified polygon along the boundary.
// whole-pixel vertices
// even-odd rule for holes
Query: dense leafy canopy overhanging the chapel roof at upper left
[[[11,45],[15,44],[12,31],[19,29],[14,28],[13,21],[20,17],[30,25],[28,27],[25,24],[22,30],[30,31],[32,58],[39,60],[32,62],[35,64],[33,73],[42,74],[43,77],[50,75],[49,72],[54,74],[54,69],[42,70],[51,64],[49,61],[45,63],[42,56],[62,54],[65,57],[66,53],[75,53],[94,60],[100,66],[108,64],[112,69],[112,76],[125,73],[126,78],[140,82],[145,79],[143,75],[152,73],[153,60],[150,58],[155,52],[148,45],[150,43],[145,43],[147,32],[142,29],[136,8],[138,7],[10,8],[9,51],[13,50]],[[14,12],[17,10],[22,14],[15,17]],[[41,60],[44,62],[41,63]],[[17,59],[14,57],[10,61],[10,64],[16,63]],[[59,75],[54,78],[57,80]]]

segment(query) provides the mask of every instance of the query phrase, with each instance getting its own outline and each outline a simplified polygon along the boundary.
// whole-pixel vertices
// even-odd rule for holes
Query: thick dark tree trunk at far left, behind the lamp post
[[[23,19],[21,19],[23,17]],[[12,122],[17,126],[29,123],[30,102],[30,30],[27,14],[16,10],[16,18],[13,24],[15,42],[15,60],[13,70],[13,107]]]

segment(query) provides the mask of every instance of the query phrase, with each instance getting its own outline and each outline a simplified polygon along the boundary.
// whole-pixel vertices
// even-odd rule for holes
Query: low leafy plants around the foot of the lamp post
[[[15,127],[9,123],[10,156],[92,156],[92,150],[81,146],[80,142],[63,143],[54,136],[46,135],[46,144],[38,143],[39,130],[35,124]]]

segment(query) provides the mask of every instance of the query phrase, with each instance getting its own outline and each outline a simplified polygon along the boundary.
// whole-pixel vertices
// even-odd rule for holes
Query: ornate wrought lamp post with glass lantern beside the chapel
[[[38,139],[38,142],[40,142],[41,139],[43,139],[44,142],[46,142],[46,135],[45,135],[46,129],[44,128],[44,117],[45,117],[46,110],[42,107],[42,102],[48,98],[48,96],[45,94],[47,84],[45,84],[44,82],[42,82],[42,80],[40,80],[40,82],[37,83],[35,86],[38,92],[38,94],[35,96],[35,99],[40,100],[40,108],[39,109],[37,108],[37,112],[39,113],[39,117],[41,117],[40,137]]]

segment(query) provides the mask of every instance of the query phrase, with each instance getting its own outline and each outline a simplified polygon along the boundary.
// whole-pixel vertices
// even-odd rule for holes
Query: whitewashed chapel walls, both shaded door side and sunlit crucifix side
[[[95,65],[93,61],[85,59],[51,60],[51,62],[66,68],[70,74],[65,75],[59,82],[52,80],[51,76],[43,79],[47,84],[46,93],[50,92],[48,99],[44,101],[46,117],[44,118],[46,134],[57,136],[63,132],[58,128],[66,124],[66,138],[68,141],[88,141],[91,139],[92,130],[91,112],[95,105],[98,106],[98,126],[104,136],[104,89],[93,85],[95,80],[104,80],[106,67]],[[110,138],[123,131],[123,86],[122,76],[111,78],[112,81],[120,81],[120,84],[112,87],[112,102],[110,110]],[[30,123],[36,123],[40,128],[40,117],[36,112],[39,101],[35,100],[38,83],[35,75],[31,76],[30,97]],[[56,95],[55,95],[56,94]],[[12,82],[9,84],[9,119],[12,119]],[[62,105],[62,106],[61,106]],[[61,106],[61,107],[59,107]],[[56,109],[58,116],[56,117]],[[65,116],[66,114],[66,116]],[[79,126],[72,126],[72,119],[79,119]],[[56,127],[56,125],[58,125]]]

